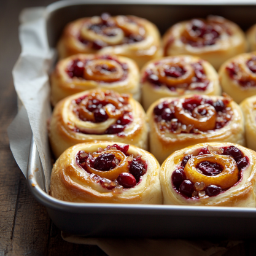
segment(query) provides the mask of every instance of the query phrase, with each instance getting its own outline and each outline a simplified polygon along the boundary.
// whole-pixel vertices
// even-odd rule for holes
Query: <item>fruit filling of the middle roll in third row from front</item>
[[[171,91],[207,90],[209,80],[204,72],[203,61],[188,64],[180,58],[177,64],[176,59],[171,58],[169,63],[168,60],[157,61],[155,66],[146,69],[142,82],[148,81],[157,87],[165,86]]]

